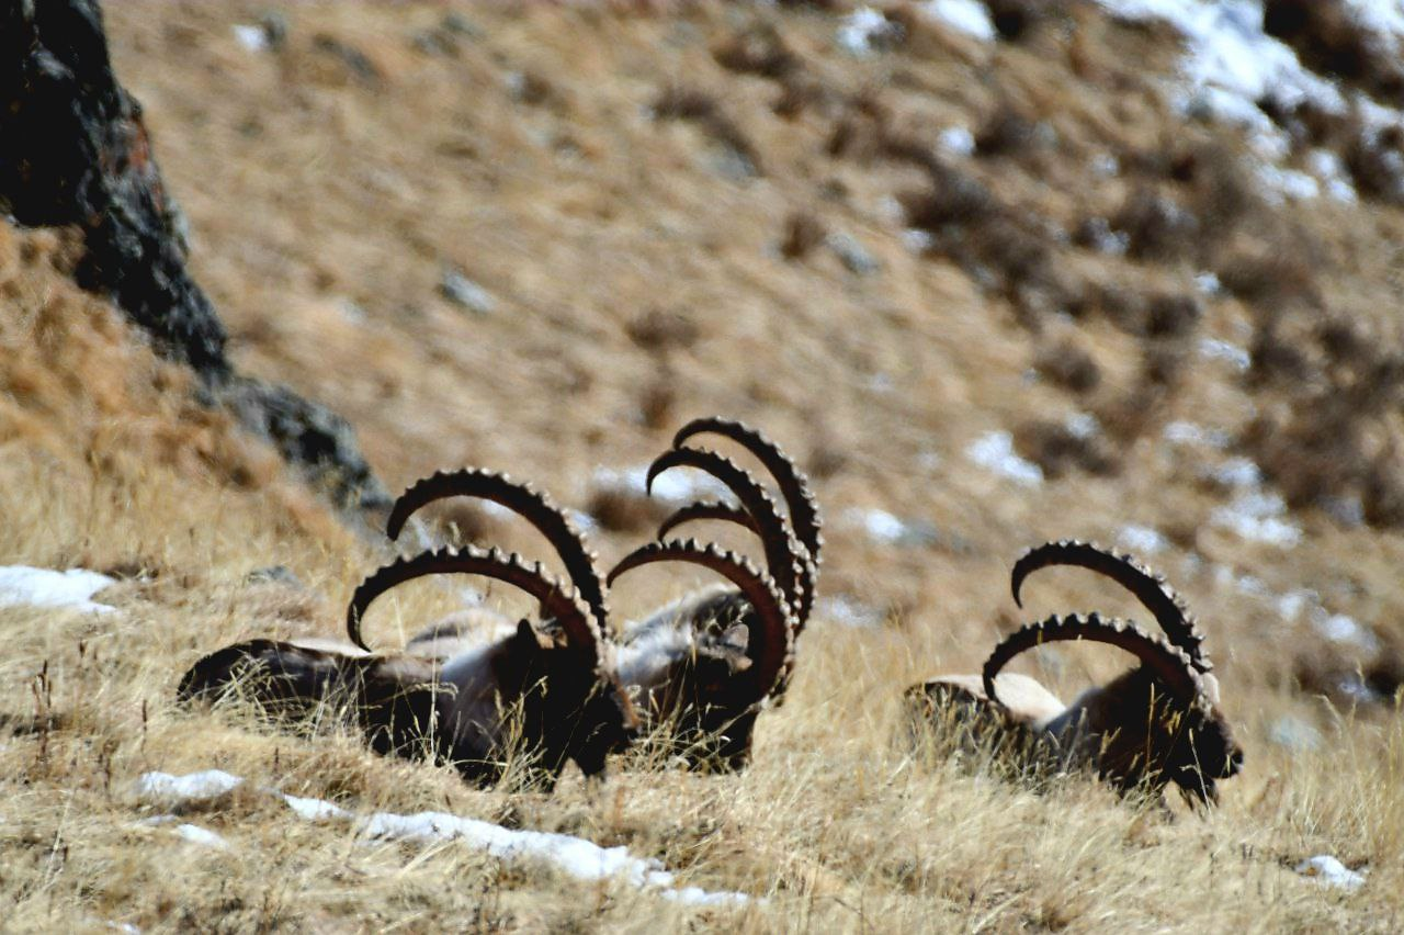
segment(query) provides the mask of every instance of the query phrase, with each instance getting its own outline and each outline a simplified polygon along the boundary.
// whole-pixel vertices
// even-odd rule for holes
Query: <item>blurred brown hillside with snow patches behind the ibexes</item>
[[[647,462],[724,414],[816,483],[820,623],[914,674],[1021,619],[1024,548],[1091,538],[1164,571],[1227,671],[1393,699],[1397,1],[122,0],[105,25],[229,359],[344,417],[392,494],[508,470],[609,562],[696,487],[643,497]],[[62,229],[3,233],[6,445],[296,486],[76,289]],[[1063,574],[1029,614],[1132,611]]]

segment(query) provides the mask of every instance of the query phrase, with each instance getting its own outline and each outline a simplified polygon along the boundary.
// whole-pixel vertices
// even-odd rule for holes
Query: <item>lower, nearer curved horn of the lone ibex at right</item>
[[[1075,614],[1063,618],[1054,615],[1038,623],[1028,623],[1005,636],[984,663],[981,675],[986,696],[994,702],[1000,701],[994,691],[994,677],[1015,656],[1043,643],[1066,640],[1108,643],[1123,649],[1139,658],[1175,698],[1186,702],[1198,702],[1203,698],[1203,684],[1189,656],[1182,649],[1146,633],[1134,623],[1102,619],[1097,614],[1090,614],[1085,618]]]

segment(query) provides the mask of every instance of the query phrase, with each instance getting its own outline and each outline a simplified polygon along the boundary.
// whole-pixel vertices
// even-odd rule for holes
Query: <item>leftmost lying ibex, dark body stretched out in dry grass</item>
[[[498,475],[477,476],[501,497],[531,504],[526,512],[538,529],[557,549],[571,549],[562,536],[569,521],[543,496]],[[399,584],[445,573],[507,581],[536,598],[541,621],[512,626],[489,611],[459,614],[427,628],[402,653],[372,653],[361,639],[371,604]],[[526,776],[549,786],[567,760],[587,776],[601,774],[607,755],[625,748],[637,727],[614,647],[600,630],[602,612],[601,594],[581,599],[576,587],[517,555],[473,546],[425,552],[393,562],[355,590],[347,608],[351,644],[239,643],[195,663],[180,696],[243,692],[284,717],[345,705],[376,751],[428,754],[482,785],[503,776],[515,743],[526,757]],[[489,633],[470,632],[484,625]]]

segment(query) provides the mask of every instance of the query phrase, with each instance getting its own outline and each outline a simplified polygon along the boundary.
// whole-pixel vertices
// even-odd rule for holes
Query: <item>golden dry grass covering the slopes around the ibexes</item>
[[[1199,296],[1196,320],[1147,337],[1118,320],[1109,286],[1175,298],[1206,267],[1228,281],[1294,250],[1313,268],[1302,288],[1328,296],[1331,320],[1394,348],[1404,215],[1254,205],[1210,244],[1214,257],[1198,243],[1133,257],[1059,243],[1052,263],[1015,272],[1011,254],[1038,229],[1029,216],[1070,230],[1115,215],[1137,185],[1174,184],[1092,173],[1102,154],[1139,166],[1199,153],[1209,178],[1178,197],[1207,199],[1207,226],[1234,223],[1214,198],[1243,140],[1170,112],[1153,80],[1174,67],[1168,37],[1073,7],[1075,38],[979,46],[914,25],[901,48],[856,59],[834,46],[835,17],[812,8],[455,7],[472,24],[455,31],[444,4],[299,3],[285,10],[286,44],[250,52],[232,27],[263,4],[110,4],[118,74],[146,108],[239,366],[348,417],[392,490],[480,465],[595,511],[607,562],[651,514],[602,497],[598,469],[646,463],[691,416],[746,418],[816,480],[828,601],[739,776],[616,771],[598,790],[569,776],[552,796],[476,792],[336,730],[300,740],[237,713],[183,712],[174,685],[201,653],[337,633],[350,590],[386,553],[343,532],[267,449],[202,409],[187,376],[69,285],[62,237],[0,230],[4,560],[121,577],[100,595],[114,615],[0,611],[6,925],[1397,931],[1404,729],[1391,699],[1349,698],[1398,665],[1404,541],[1310,503],[1286,517],[1302,528],[1294,548],[1217,522],[1236,494],[1213,472],[1268,451],[1252,441],[1273,425],[1264,414],[1286,418],[1299,400],[1199,341],[1258,340],[1265,300]],[[760,35],[764,48],[767,27],[800,66],[746,65],[739,41]],[[423,35],[438,38],[411,41]],[[890,138],[929,143],[1004,108],[1059,140],[994,147],[963,168],[1002,205],[983,211],[1015,233],[969,230],[948,256],[914,251],[904,229],[932,181],[890,157]],[[845,243],[872,267],[856,271]],[[952,258],[965,248],[974,256]],[[445,270],[486,288],[493,307],[445,299]],[[1049,307],[1068,293],[1082,296],[1077,314]],[[1095,386],[1049,376],[1068,347]],[[1098,417],[1094,441],[1039,448],[1078,413]],[[1360,430],[1360,451],[1390,448],[1391,418]],[[1172,444],[1175,421],[1231,444]],[[1014,431],[1049,480],[974,465],[969,445],[995,430]],[[910,535],[873,538],[873,510]],[[477,522],[538,548],[510,524]],[[1022,548],[1111,542],[1129,525],[1167,539],[1146,557],[1199,612],[1247,748],[1220,809],[1172,803],[1168,817],[1080,779],[1033,795],[894,743],[903,687],[974,671],[1019,622],[1007,574]],[[279,564],[300,584],[250,577]],[[1097,580],[1045,577],[1029,615],[1133,614]],[[651,592],[630,581],[616,609],[642,612],[691,583],[663,578],[649,576]],[[1375,647],[1285,614],[1278,598],[1304,590]],[[406,592],[378,614],[386,643],[452,605],[432,584]],[[849,625],[855,608],[873,619]],[[1050,651],[1042,671],[1066,698],[1115,661]],[[689,908],[463,845],[368,842],[254,793],[183,818],[229,849],[140,824],[160,811],[133,792],[142,772],[205,768],[357,813],[438,809],[623,844],[687,883],[764,901]],[[1316,854],[1366,870],[1366,884],[1297,876]]]

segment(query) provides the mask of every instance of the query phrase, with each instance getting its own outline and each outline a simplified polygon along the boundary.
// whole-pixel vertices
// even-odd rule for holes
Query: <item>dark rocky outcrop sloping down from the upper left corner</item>
[[[97,0],[0,8],[0,208],[11,223],[80,230],[79,285],[111,298],[199,375],[202,399],[229,407],[338,507],[389,504],[345,420],[234,372],[223,324],[185,265],[184,219],[140,104],[112,73]]]

